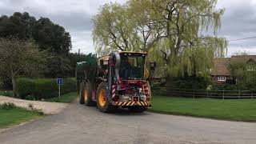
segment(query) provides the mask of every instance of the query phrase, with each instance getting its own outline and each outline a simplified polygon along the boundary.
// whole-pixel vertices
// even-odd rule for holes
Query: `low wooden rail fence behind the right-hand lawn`
[[[188,90],[188,89],[153,89],[153,94],[187,98],[256,98],[256,92],[250,90]]]

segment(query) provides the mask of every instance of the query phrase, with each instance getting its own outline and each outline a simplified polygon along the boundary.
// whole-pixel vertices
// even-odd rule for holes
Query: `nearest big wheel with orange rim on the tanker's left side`
[[[97,107],[98,110],[103,113],[113,112],[116,109],[116,106],[113,106],[110,103],[110,100],[107,99],[107,89],[105,82],[100,83],[97,89]]]

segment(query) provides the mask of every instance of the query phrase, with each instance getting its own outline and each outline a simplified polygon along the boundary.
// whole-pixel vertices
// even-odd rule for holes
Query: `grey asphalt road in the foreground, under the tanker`
[[[0,133],[1,144],[256,143],[256,123],[227,122],[165,114],[103,114],[95,107],[67,106]]]

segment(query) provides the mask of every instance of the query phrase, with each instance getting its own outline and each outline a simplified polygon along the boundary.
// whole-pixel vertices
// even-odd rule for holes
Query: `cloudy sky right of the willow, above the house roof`
[[[218,32],[219,36],[229,40],[238,38],[247,38],[256,36],[256,10],[254,0],[220,0],[220,7],[226,11],[222,17],[222,28]],[[256,54],[256,38],[240,41],[230,41],[228,46],[228,55],[235,51],[249,51],[250,54]]]

